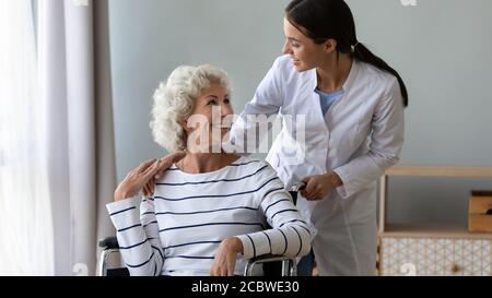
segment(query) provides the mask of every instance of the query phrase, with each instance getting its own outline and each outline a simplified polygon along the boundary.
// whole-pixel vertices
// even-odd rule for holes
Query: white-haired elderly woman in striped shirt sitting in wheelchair
[[[130,171],[107,205],[131,275],[237,275],[253,257],[309,252],[309,229],[270,165],[222,150],[230,93],[212,65],[179,67],[156,90],[153,136],[175,153]]]

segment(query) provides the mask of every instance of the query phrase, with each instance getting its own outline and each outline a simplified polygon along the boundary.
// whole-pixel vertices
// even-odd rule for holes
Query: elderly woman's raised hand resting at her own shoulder
[[[183,152],[175,152],[161,159],[149,159],[142,163],[138,168],[128,172],[127,177],[119,183],[115,191],[115,201],[125,200],[137,195],[149,181],[154,180],[154,175],[157,171],[167,169],[173,163],[185,157]],[[153,184],[152,184],[153,192]],[[149,190],[145,189],[143,194],[149,195]]]

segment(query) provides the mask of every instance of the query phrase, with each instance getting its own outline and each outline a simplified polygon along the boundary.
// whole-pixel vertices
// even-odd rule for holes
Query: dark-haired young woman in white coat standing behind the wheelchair
[[[342,0],[291,1],[284,35],[284,56],[234,123],[231,141],[245,148],[244,136],[256,130],[248,116],[280,112],[292,119],[267,160],[286,188],[306,183],[297,207],[317,234],[314,255],[301,262],[300,273],[307,266],[309,274],[314,257],[320,275],[373,275],[376,181],[399,160],[406,86],[358,40]],[[301,132],[303,143],[296,141]],[[293,147],[303,160],[292,162]]]

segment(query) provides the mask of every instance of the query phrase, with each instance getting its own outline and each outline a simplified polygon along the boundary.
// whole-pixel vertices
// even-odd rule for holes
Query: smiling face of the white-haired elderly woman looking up
[[[188,148],[190,143],[199,143],[201,152],[220,145],[231,130],[233,114],[230,94],[219,83],[210,84],[210,88],[196,99],[186,121]]]

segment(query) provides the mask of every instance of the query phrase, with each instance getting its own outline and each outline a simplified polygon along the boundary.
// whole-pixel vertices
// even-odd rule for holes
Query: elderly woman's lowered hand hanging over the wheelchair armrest
[[[233,276],[236,267],[237,253],[243,252],[243,243],[239,238],[232,237],[224,239],[215,253],[211,276]]]

